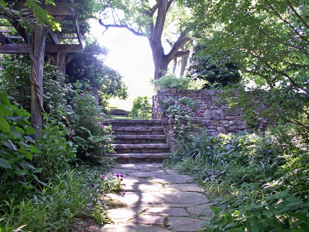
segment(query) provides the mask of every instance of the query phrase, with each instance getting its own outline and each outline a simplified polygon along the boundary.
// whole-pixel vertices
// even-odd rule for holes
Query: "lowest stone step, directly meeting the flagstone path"
[[[107,154],[108,157],[115,158],[117,163],[163,163],[163,160],[169,158],[168,152],[161,153],[122,153]]]

